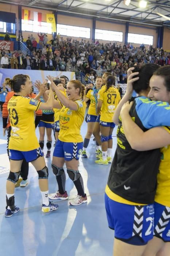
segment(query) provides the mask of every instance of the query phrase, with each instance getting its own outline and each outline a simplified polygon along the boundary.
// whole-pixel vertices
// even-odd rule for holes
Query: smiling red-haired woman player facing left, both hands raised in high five
[[[47,76],[51,87],[57,95],[58,101],[54,102],[54,108],[61,108],[59,114],[59,136],[55,145],[52,161],[53,173],[58,183],[58,191],[50,194],[49,198],[66,200],[68,195],[65,189],[66,175],[63,169],[66,163],[69,178],[74,182],[77,189],[77,197],[70,204],[73,206],[87,202],[84,192],[83,179],[78,171],[78,159],[80,157],[83,139],[80,128],[84,120],[86,103],[84,102],[84,85],[78,80],[71,80],[67,83],[66,94],[63,95],[53,82],[51,76]]]

